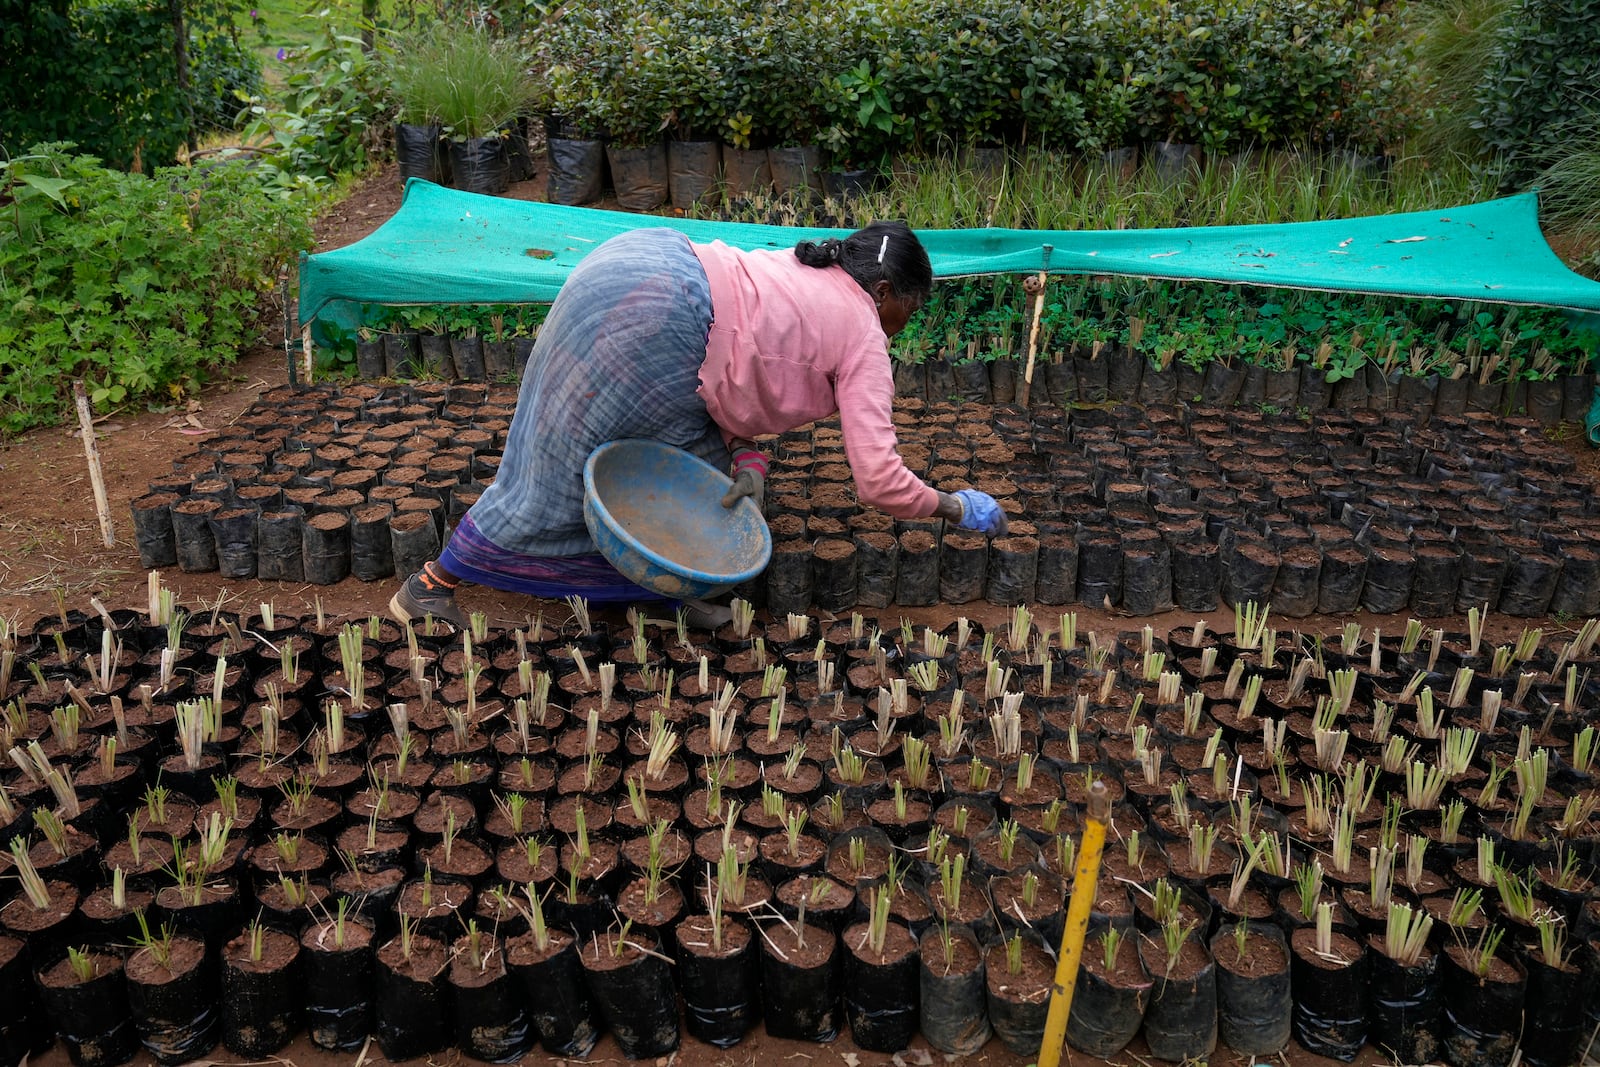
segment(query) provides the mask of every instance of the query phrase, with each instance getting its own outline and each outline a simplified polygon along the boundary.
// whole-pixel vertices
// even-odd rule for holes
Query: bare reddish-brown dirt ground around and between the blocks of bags
[[[512,186],[509,195],[542,200],[542,176]],[[323,213],[315,227],[315,250],[339,248],[360,240],[394,214],[398,206],[400,182],[390,165],[362,181],[349,198]],[[0,614],[29,627],[35,619],[54,611],[56,590],[66,593],[67,606],[72,608],[86,609],[90,597],[99,597],[107,608],[144,608],[147,576],[139,566],[139,557],[133,545],[130,502],[147,491],[147,482],[154,475],[170,470],[176,456],[192,450],[210,432],[229,426],[264,390],[288,381],[282,344],[282,312],[277,312],[267,323],[267,336],[269,342],[242,352],[238,362],[222,368],[213,384],[186,408],[166,413],[117,411],[99,421],[96,432],[115,530],[115,542],[110,547],[101,542],[77,427],[40,430],[0,442]],[[1581,435],[1571,434],[1565,440],[1586,475],[1595,478],[1600,472],[1600,458],[1582,442]],[[163,573],[162,577],[178,592],[182,605],[221,603],[243,611],[270,600],[280,613],[310,613],[320,600],[331,616],[365,617],[384,613],[394,592],[394,581],[368,584],[354,577],[328,587],[285,585],[253,579],[230,581],[214,573],[182,574],[176,569]],[[522,624],[536,611],[544,611],[546,617],[563,617],[565,613],[565,605],[560,603],[539,603],[528,597],[480,587],[467,589],[462,600],[470,609],[488,613],[490,619],[501,625]],[[936,622],[939,625],[955,614],[966,614],[992,625],[1002,622],[1008,613],[986,603],[904,611],[890,608],[880,613],[880,616],[894,621],[902,614],[914,622]],[[1333,632],[1346,621],[1344,617],[1310,617],[1299,621],[1298,625],[1309,632]],[[1080,627],[1085,630],[1134,630],[1147,622],[1155,627],[1157,633],[1165,633],[1174,625],[1192,624],[1194,616],[1173,613],[1150,619],[1131,619],[1106,611],[1080,609]],[[1226,613],[1216,613],[1211,622],[1216,629],[1232,625],[1232,619],[1226,617]],[[1389,632],[1398,632],[1405,625],[1403,617],[1362,617],[1362,622],[1366,627],[1381,625]],[[1458,627],[1461,622],[1461,619],[1445,621],[1445,624]],[[1528,622],[1491,617],[1488,635],[1496,640],[1506,633],[1517,633]],[[1570,624],[1549,619],[1544,624],[1547,635],[1570,629]],[[221,1046],[213,1051],[213,1057],[200,1062],[221,1065],[230,1064],[234,1059]],[[995,1040],[981,1054],[966,1057],[966,1062],[976,1067],[1016,1067],[1030,1059],[1008,1054]],[[1298,1045],[1291,1045],[1278,1059],[1291,1067],[1322,1067],[1325,1064],[1331,1067],[1334,1064],[1334,1061],[1306,1053]],[[472,1062],[459,1053],[440,1054],[427,1062],[448,1065],[462,1061]],[[1232,1056],[1227,1049],[1219,1049],[1213,1061],[1219,1064],[1248,1062]],[[58,1045],[38,1062],[45,1067],[67,1067],[69,1061],[64,1048]],[[141,1054],[134,1062],[147,1064],[150,1061]],[[298,1067],[333,1067],[334,1064],[360,1067],[362,1064],[382,1062],[382,1056],[376,1045],[371,1045],[362,1056],[330,1054],[299,1037],[278,1057],[267,1062]],[[557,1061],[542,1053],[530,1053],[523,1062]],[[616,1045],[606,1038],[587,1062],[618,1064],[624,1061]],[[920,1038],[907,1053],[890,1057],[858,1049],[848,1035],[824,1046],[774,1040],[760,1030],[726,1051],[685,1037],[678,1053],[656,1061],[662,1067],[667,1064],[682,1067],[747,1067],[754,1064],[765,1067],[824,1067],[829,1064],[875,1067],[890,1062],[906,1067],[947,1061],[942,1054],[930,1051]],[[1062,1062],[1083,1067],[1102,1061],[1072,1054],[1069,1049]],[[1363,1067],[1381,1062],[1386,1062],[1384,1057],[1371,1048],[1365,1049],[1357,1061]],[[1130,1046],[1112,1064],[1117,1067],[1152,1067],[1142,1043]]]

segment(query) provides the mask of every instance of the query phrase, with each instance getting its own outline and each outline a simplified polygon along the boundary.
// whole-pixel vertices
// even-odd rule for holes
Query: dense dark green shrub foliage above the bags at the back
[[[589,0],[533,46],[542,107],[619,141],[822,141],[872,163],[946,144],[1379,150],[1405,125],[1392,29],[1350,0]]]

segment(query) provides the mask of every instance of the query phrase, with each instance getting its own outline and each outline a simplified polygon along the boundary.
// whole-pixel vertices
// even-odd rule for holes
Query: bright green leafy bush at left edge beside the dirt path
[[[40,144],[0,165],[0,432],[173,402],[259,336],[264,294],[310,243],[304,202],[238,163],[125,174]]]

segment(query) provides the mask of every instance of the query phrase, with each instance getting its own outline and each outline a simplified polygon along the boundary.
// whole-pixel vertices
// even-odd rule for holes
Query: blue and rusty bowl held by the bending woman
[[[584,523],[600,553],[662,597],[712,597],[766,568],[773,536],[755,501],[723,507],[733,482],[699,456],[643,438],[584,464]]]

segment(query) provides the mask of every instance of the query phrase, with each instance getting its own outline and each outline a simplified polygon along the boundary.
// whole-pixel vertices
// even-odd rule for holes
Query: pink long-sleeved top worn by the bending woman
[[[896,518],[931,515],[938,494],[896,451],[894,376],[877,306],[843,267],[794,250],[694,245],[712,314],[699,394],[726,438],[782,434],[838,411],[856,496]]]

